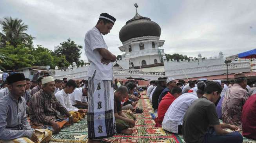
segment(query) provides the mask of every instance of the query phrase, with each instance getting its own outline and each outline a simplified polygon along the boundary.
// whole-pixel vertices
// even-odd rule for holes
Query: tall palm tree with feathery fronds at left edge
[[[0,42],[2,46],[8,41],[11,45],[16,47],[20,43],[26,44],[31,38],[29,34],[25,33],[28,29],[28,25],[25,25],[21,19],[5,17],[4,21],[0,21],[0,25],[2,25],[3,31],[3,33],[0,32]]]

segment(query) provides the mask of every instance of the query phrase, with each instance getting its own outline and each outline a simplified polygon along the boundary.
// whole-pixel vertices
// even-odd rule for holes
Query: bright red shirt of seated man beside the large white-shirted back
[[[172,102],[175,100],[175,97],[171,95],[170,92],[168,92],[161,100],[161,102],[158,105],[157,109],[157,118],[155,118],[156,126],[155,127],[162,127],[162,122],[164,115]]]

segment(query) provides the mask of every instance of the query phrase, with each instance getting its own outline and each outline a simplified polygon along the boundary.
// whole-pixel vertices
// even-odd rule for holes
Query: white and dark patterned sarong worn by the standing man
[[[90,140],[109,138],[116,133],[113,82],[96,80],[94,75],[88,79],[87,123]]]

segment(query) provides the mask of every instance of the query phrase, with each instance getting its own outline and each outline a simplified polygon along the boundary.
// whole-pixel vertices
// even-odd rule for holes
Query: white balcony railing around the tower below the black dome
[[[139,50],[139,51],[129,52],[129,56],[127,55],[128,53],[125,53],[125,54],[122,55],[122,59],[140,57],[140,56],[143,56],[143,55],[150,55],[150,54],[158,54],[158,50],[160,50],[161,54],[164,54],[163,49],[146,49],[146,50]]]

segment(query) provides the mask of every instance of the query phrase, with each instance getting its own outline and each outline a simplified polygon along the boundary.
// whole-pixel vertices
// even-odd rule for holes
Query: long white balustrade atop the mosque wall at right
[[[240,69],[240,68],[250,68],[250,63],[233,63],[228,65],[228,70],[233,69]],[[219,71],[219,70],[226,70],[227,65],[226,64],[220,64],[220,65],[214,65],[214,66],[202,66],[202,67],[196,67],[196,68],[184,68],[184,69],[178,69],[178,70],[166,70],[166,75],[183,75],[186,74],[192,74],[192,73],[201,73],[201,72],[211,72],[211,71]]]

